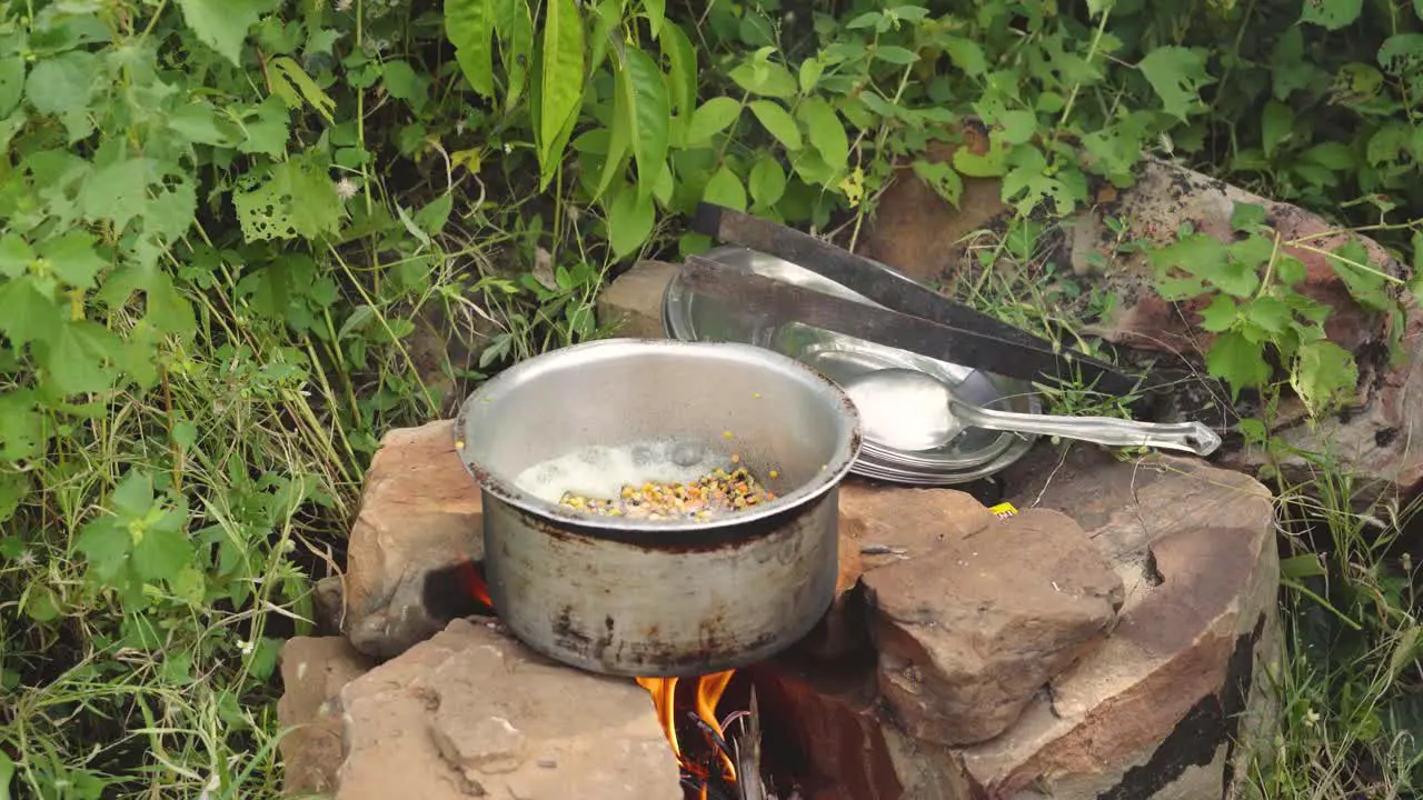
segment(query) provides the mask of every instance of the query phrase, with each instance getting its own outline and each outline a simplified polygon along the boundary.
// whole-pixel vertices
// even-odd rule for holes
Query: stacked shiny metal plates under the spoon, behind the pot
[[[727,246],[706,253],[706,258],[805,289],[878,306],[840,283],[761,252]],[[1005,411],[1042,411],[1039,399],[1026,381],[884,347],[795,320],[753,315],[690,292],[680,276],[672,279],[663,295],[662,325],[673,339],[740,342],[777,350],[820,370],[840,386],[875,370],[912,369],[945,383],[969,403]],[[874,428],[871,423],[874,420],[867,420],[864,427]],[[867,434],[852,471],[902,484],[952,485],[995,474],[1022,458],[1032,446],[1033,437],[968,428],[942,447],[908,451],[875,441]]]

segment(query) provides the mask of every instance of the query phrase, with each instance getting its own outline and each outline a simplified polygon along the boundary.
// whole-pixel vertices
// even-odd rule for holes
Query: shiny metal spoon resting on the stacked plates
[[[1138,423],[990,411],[965,403],[938,379],[908,369],[865,373],[845,384],[865,438],[898,450],[943,447],[966,427],[1056,436],[1114,447],[1161,447],[1210,456],[1221,437],[1201,423]]]

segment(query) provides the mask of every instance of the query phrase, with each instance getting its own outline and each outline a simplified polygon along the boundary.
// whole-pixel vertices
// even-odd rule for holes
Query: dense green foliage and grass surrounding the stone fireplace
[[[709,245],[682,229],[700,201],[854,238],[908,169],[951,204],[999,177],[1042,222],[1154,155],[1412,262],[1420,19],[1365,0],[0,0],[0,797],[273,791],[276,652],[310,629],[380,434],[603,333],[609,270]],[[928,158],[965,131],[986,151]],[[1228,344],[1207,363],[1232,389],[1322,410],[1352,356],[1316,335],[1326,312],[1268,225],[1242,209],[1238,228],[1251,245],[1191,251],[1210,248],[1184,231],[1157,253],[1163,292],[1185,269],[1215,295]],[[1397,310],[1399,278],[1336,262]],[[431,329],[481,354],[428,363]],[[1380,642],[1412,662],[1412,595],[1389,584],[1380,612],[1355,588],[1321,636],[1366,635],[1296,653],[1298,736],[1262,794],[1412,786],[1403,669],[1373,693],[1335,680]],[[1321,707],[1339,712],[1301,722]]]

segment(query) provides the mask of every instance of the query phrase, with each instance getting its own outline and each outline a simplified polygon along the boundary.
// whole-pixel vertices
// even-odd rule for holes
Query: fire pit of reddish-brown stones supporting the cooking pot
[[[323,592],[344,635],[283,651],[287,790],[682,797],[646,690],[461,616],[480,494],[451,441],[448,421],[386,437],[344,592]],[[1087,447],[1007,484],[1005,520],[952,490],[845,484],[840,599],[746,670],[766,760],[807,800],[1220,797],[1272,717],[1268,493]]]

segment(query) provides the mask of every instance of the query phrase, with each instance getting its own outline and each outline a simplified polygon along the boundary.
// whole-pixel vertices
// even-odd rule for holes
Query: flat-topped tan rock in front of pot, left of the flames
[[[342,690],[336,800],[680,797],[652,699],[457,619]]]

